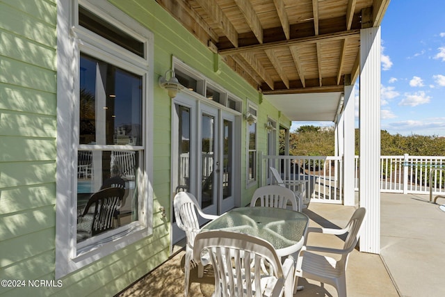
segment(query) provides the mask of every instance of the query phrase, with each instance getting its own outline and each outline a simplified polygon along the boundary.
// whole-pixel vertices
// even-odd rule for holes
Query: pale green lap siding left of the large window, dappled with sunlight
[[[0,1],[2,280],[54,279],[55,61],[54,1]],[[5,296],[25,293],[0,288]]]

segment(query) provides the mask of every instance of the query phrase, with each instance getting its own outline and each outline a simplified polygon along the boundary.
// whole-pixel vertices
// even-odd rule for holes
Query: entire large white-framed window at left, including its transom
[[[58,1],[56,278],[152,233],[152,65],[152,33],[115,6]],[[111,211],[88,207],[110,187]]]

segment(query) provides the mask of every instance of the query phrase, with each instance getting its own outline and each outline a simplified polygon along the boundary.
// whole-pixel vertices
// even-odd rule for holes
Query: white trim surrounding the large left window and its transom
[[[140,195],[143,205],[141,213],[143,214],[138,220],[140,223],[133,223],[133,230],[128,230],[127,235],[116,236],[102,246],[88,252],[77,255],[76,250],[76,205],[73,205],[74,195],[74,178],[76,176],[76,156],[73,152],[77,147],[75,140],[78,136],[68,131],[76,131],[74,122],[79,117],[78,103],[76,94],[79,93],[79,77],[77,73],[77,65],[79,64],[79,45],[76,35],[82,35],[85,43],[81,45],[83,52],[88,52],[88,35],[83,35],[82,30],[72,29],[76,24],[76,13],[79,3],[93,10],[97,15],[103,17],[108,22],[116,23],[119,19],[119,26],[124,28],[127,33],[140,40],[147,40],[146,43],[146,59],[136,58],[135,54],[129,54],[122,50],[122,60],[130,62],[139,59],[133,65],[143,63],[147,67],[147,74],[144,77],[145,83],[145,106],[144,106],[144,122],[143,133],[145,135],[145,163],[143,170],[140,172],[141,188],[144,189],[143,195]],[[153,81],[154,74],[151,67],[154,65],[154,35],[138,24],[134,19],[122,13],[115,6],[105,0],[96,0],[93,6],[84,0],[58,0],[57,1],[57,160],[56,166],[56,279],[67,275],[83,266],[86,266],[97,259],[101,259],[112,252],[124,248],[145,236],[152,234],[153,220],[153,188],[152,188],[152,164],[153,164]],[[106,44],[106,41],[103,41]],[[80,42],[79,42],[80,43]],[[97,44],[97,42],[95,42]],[[106,48],[106,47],[105,47]],[[108,49],[102,53],[104,56],[111,58],[112,52]],[[134,55],[134,56],[132,56]],[[112,58],[111,58],[112,59]],[[143,61],[143,62],[142,62]],[[113,60],[119,65],[120,61]],[[128,65],[125,65],[128,69]],[[136,69],[135,67],[134,69]],[[74,71],[73,71],[74,70]]]

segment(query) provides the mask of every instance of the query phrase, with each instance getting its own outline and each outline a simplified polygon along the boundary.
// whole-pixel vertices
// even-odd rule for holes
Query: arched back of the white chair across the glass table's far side
[[[257,188],[252,195],[250,206],[256,206],[258,200],[260,201],[259,206],[261,207],[279,208],[286,208],[287,202],[290,201],[292,210],[301,211],[301,209],[298,209],[298,202],[293,191],[289,190],[289,188],[283,188],[282,186],[271,185]]]

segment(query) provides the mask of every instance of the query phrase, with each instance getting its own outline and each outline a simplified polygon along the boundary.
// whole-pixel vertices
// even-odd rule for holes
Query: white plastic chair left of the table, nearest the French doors
[[[173,201],[176,223],[179,229],[186,232],[186,263],[184,267],[184,296],[188,295],[188,280],[190,279],[190,264],[193,259],[193,243],[195,236],[200,232],[200,223],[197,214],[202,218],[213,220],[218,216],[204,214],[200,204],[197,203],[195,196],[188,192],[179,192],[175,195]],[[196,212],[197,211],[197,212]],[[204,267],[201,262],[197,262],[198,278],[202,278]]]

